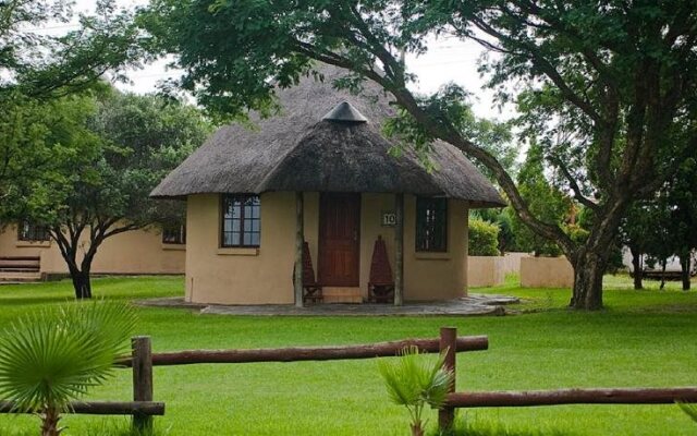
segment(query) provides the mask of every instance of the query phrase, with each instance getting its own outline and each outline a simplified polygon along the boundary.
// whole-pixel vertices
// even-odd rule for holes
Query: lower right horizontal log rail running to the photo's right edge
[[[559,389],[450,393],[451,408],[515,408],[561,404],[672,404],[697,402],[697,387]]]

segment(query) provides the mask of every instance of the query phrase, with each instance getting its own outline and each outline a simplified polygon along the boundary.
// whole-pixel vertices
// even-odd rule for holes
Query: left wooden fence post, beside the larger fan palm
[[[152,347],[149,336],[131,339],[133,347],[133,401],[152,401]],[[148,432],[152,428],[152,416],[136,413],[133,428]]]

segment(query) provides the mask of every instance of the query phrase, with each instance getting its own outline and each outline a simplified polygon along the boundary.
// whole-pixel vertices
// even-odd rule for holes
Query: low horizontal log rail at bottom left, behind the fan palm
[[[0,413],[34,413],[17,410],[12,401],[0,401]],[[84,415],[164,415],[164,403],[154,401],[74,401],[68,413]]]

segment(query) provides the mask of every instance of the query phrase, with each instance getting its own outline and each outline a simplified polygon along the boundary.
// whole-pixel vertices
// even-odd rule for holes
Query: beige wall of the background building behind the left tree
[[[83,238],[82,243],[86,240]],[[68,267],[54,242],[17,240],[14,225],[0,232],[0,256],[40,256],[41,274],[65,274]],[[159,228],[108,238],[93,261],[94,274],[183,274],[185,245],[162,244]]]

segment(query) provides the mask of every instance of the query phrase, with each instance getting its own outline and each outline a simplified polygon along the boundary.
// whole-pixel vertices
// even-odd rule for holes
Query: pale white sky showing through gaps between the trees
[[[118,0],[122,7],[134,8],[147,4],[147,0]],[[76,0],[75,12],[94,10],[94,0]],[[52,28],[51,28],[52,27]],[[72,28],[75,28],[74,26]],[[46,32],[61,33],[72,29],[70,25],[47,25]],[[477,117],[505,120],[514,116],[512,107],[501,111],[493,101],[493,93],[485,88],[485,78],[477,72],[477,60],[484,49],[475,41],[462,41],[455,38],[429,39],[428,51],[419,57],[407,56],[407,69],[418,77],[412,89],[419,93],[433,93],[441,85],[454,82],[472,93],[472,105]],[[140,70],[127,72],[129,83],[117,83],[115,86],[137,94],[157,92],[157,84],[171,76],[175,71],[168,71],[167,61],[158,61],[145,65]]]

